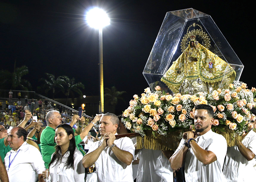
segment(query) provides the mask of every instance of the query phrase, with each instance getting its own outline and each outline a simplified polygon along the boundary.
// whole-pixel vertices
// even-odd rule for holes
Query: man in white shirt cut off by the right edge
[[[255,111],[254,108],[252,110]],[[242,136],[242,141],[234,147],[228,147],[223,166],[223,173],[228,182],[255,181],[253,174],[256,171],[253,165],[256,159],[256,133],[252,131],[255,124],[255,120],[248,123],[247,132]]]

